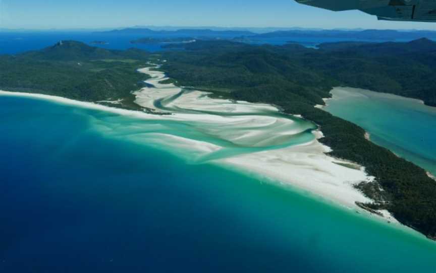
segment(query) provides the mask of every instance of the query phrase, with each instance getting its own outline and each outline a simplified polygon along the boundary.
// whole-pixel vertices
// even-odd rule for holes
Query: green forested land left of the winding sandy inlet
[[[149,58],[137,49],[106,50],[62,41],[40,51],[0,56],[0,88],[82,101],[123,99],[126,107],[133,107],[131,91],[147,79],[136,70]]]

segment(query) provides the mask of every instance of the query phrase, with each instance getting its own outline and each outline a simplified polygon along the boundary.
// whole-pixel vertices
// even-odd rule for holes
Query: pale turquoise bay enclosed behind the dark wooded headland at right
[[[436,107],[361,89],[334,89],[324,109],[363,127],[371,141],[436,175]]]

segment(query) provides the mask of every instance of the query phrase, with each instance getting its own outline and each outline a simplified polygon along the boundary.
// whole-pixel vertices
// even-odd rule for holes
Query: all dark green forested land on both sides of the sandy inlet
[[[366,140],[359,126],[317,109],[334,86],[365,88],[417,98],[436,106],[436,43],[337,43],[309,49],[298,44],[247,45],[231,41],[173,44],[185,50],[159,55],[138,49],[106,50],[63,41],[40,51],[0,56],[0,89],[84,101],[124,101],[138,109],[132,91],[149,60],[181,86],[220,96],[280,106],[318,124],[332,156],[366,167],[376,181],[358,187],[401,223],[436,238],[436,183],[416,165]],[[382,190],[383,189],[383,190]]]

